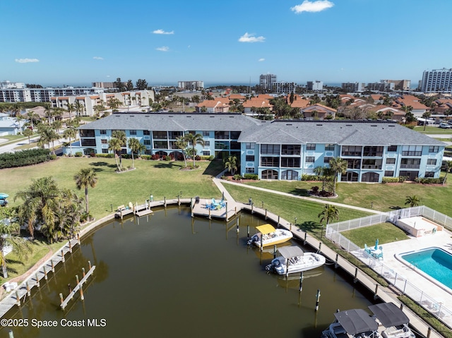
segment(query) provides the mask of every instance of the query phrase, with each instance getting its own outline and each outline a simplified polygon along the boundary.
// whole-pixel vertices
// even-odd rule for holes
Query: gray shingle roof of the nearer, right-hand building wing
[[[445,145],[410,128],[383,121],[272,121],[244,131],[239,142]]]

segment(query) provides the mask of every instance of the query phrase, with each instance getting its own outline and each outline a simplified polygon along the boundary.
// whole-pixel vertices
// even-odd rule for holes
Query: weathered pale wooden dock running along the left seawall
[[[66,245],[61,248],[61,251],[55,253],[52,258],[44,262],[37,272],[31,274],[28,279],[25,279],[18,287],[11,291],[5,298],[0,301],[0,318],[2,318],[13,306],[20,306],[21,301],[27,296],[30,296],[31,289],[35,286],[40,287],[40,281],[42,279],[48,279],[48,274],[54,272],[55,266],[59,262],[65,262],[65,255],[72,253],[74,247],[80,244],[80,239],[71,239]]]

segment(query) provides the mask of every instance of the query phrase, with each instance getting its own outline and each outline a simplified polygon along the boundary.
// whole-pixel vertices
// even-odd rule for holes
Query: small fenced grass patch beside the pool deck
[[[340,234],[350,239],[350,241],[360,248],[364,248],[364,243],[368,246],[374,246],[374,243],[369,243],[369,239],[379,239],[379,245],[409,239],[405,231],[394,227],[394,224],[389,222],[375,224],[371,227],[342,231]]]

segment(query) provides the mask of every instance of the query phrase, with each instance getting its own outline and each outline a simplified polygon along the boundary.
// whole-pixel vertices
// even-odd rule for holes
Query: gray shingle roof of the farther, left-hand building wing
[[[243,131],[261,123],[242,114],[116,113],[81,129],[149,131]]]

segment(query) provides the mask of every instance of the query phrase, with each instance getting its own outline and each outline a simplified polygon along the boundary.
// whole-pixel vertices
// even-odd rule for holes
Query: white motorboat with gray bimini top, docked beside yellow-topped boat
[[[291,274],[321,267],[326,258],[319,253],[305,253],[299,246],[285,246],[278,249],[278,257],[266,269],[277,274]]]

